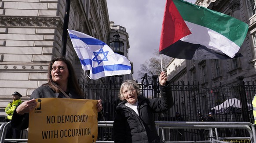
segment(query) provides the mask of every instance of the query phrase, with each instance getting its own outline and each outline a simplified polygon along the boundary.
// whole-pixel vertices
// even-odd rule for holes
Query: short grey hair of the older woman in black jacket
[[[138,86],[138,84],[134,80],[125,80],[121,84],[120,93],[118,95],[118,98],[121,101],[124,101],[124,95],[123,95],[124,87],[127,87],[129,92],[131,92],[133,89],[135,89],[136,92],[137,92],[137,95],[139,96],[139,86]]]

